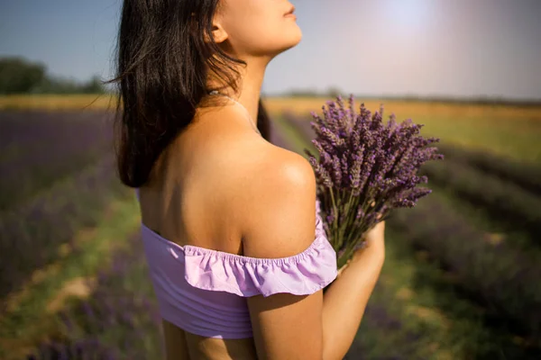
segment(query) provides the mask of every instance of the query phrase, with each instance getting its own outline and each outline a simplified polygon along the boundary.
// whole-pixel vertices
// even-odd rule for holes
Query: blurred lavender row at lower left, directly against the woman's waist
[[[113,349],[114,358],[162,359],[158,304],[139,232],[124,241],[130,247],[115,251],[113,267],[100,269],[93,296],[73,299],[63,311],[58,338],[69,345],[95,339],[101,348]]]

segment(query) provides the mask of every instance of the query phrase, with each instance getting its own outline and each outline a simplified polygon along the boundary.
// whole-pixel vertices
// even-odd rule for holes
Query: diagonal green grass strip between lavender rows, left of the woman
[[[38,276],[40,282],[10,297],[7,312],[0,318],[1,358],[22,358],[33,345],[48,338],[55,331],[55,312],[47,309],[64,285],[93,277],[107,266],[116,249],[125,247],[123,239],[136,229],[139,220],[134,195],[115,200],[104,215],[89,236],[85,236],[88,229],[81,231],[79,251],[41,269],[45,275]]]

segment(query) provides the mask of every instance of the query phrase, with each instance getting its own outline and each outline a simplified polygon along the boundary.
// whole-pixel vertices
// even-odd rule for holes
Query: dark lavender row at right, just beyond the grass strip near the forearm
[[[389,220],[412,246],[426,249],[454,281],[518,333],[541,333],[539,252],[530,253],[473,224],[436,193],[411,211],[397,211]],[[540,344],[541,345],[541,344]]]

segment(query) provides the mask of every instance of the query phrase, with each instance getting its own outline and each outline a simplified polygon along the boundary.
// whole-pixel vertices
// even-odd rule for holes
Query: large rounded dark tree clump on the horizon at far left
[[[20,94],[32,89],[45,80],[45,67],[23,58],[0,58],[0,94]]]

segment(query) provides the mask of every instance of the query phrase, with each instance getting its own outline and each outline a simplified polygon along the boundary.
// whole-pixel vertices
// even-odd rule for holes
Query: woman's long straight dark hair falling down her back
[[[117,170],[123,184],[140,187],[160,153],[193,120],[213,89],[209,71],[238,90],[236,66],[213,41],[219,0],[124,0],[116,47],[115,120]],[[257,127],[270,137],[261,99]]]

